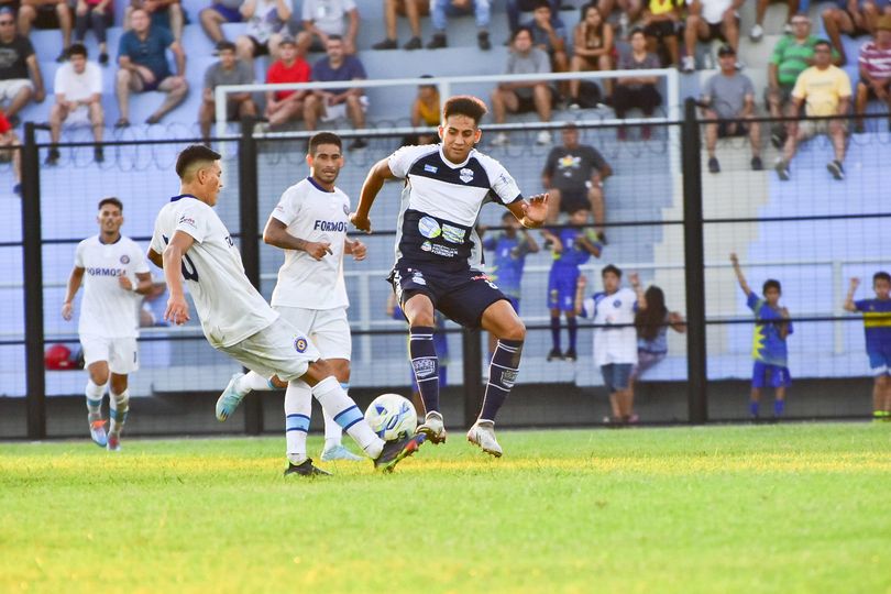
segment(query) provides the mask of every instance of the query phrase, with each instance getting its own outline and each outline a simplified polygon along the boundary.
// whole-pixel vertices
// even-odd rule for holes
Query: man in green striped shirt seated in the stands
[[[772,118],[781,118],[783,109],[792,98],[792,88],[799,75],[814,63],[814,46],[820,37],[811,34],[811,20],[804,14],[792,18],[792,33],[784,35],[768,63],[768,88],[765,103],[770,108]],[[839,55],[833,51],[833,61]],[[774,123],[771,128],[770,141],[780,148],[785,143],[785,127]]]

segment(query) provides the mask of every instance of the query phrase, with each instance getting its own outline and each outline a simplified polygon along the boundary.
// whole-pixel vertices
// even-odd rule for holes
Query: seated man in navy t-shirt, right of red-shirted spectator
[[[327,48],[328,55],[312,67],[312,78],[317,82],[345,82],[369,78],[365,67],[359,58],[345,55],[343,40],[340,38],[340,35],[329,35]],[[360,87],[316,90],[306,97],[304,103],[306,129],[316,130],[319,119],[330,122],[340,118],[349,118],[353,128],[361,130],[365,128],[367,108],[369,98]],[[367,145],[365,139],[356,138],[348,148],[354,151]]]

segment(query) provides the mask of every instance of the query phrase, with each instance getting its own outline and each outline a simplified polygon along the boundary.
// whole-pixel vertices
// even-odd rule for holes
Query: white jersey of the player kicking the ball
[[[232,346],[278,318],[245,276],[241,253],[212,208],[174,196],[157,215],[152,250],[163,253],[177,231],[195,239],[183,256],[183,277],[212,346]]]

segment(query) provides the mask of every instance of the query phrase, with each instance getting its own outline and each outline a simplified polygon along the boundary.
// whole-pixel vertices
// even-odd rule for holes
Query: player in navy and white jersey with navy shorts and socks
[[[485,105],[475,97],[452,97],[443,107],[440,144],[406,146],[375,164],[353,224],[371,233],[374,199],[387,179],[404,178],[396,264],[389,280],[409,326],[409,356],[426,409],[418,433],[433,443],[446,441],[439,411],[439,373],[433,348],[433,310],[466,328],[483,328],[498,339],[488,371],[483,408],[468,440],[492,455],[502,455],[495,439],[495,416],[519,369],[526,327],[508,298],[477,268],[482,245],[474,226],[480,208],[492,199],[505,206],[524,227],[540,227],[548,195],[527,202],[510,174],[476,150]]]

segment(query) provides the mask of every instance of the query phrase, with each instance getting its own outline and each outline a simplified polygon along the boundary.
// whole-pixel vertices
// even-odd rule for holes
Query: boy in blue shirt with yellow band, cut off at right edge
[[[891,275],[877,272],[872,275],[875,299],[854,300],[860,285],[859,278],[850,279],[845,309],[862,311],[869,366],[876,376],[872,385],[872,418],[891,421]]]

